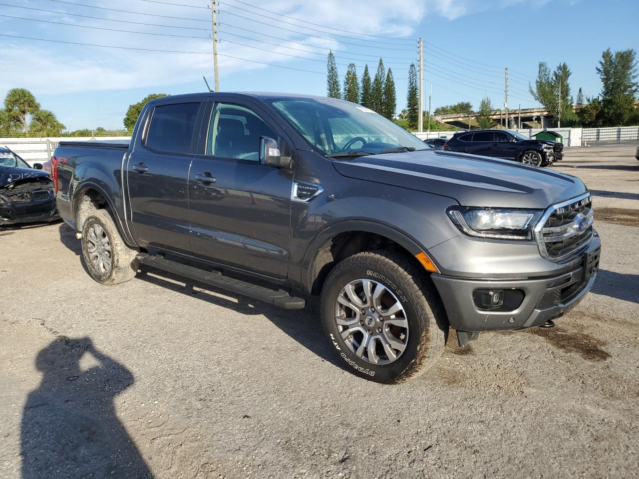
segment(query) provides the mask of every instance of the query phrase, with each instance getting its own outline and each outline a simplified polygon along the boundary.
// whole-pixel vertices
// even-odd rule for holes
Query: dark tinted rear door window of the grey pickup
[[[199,105],[196,102],[155,107],[146,146],[169,153],[190,153]]]

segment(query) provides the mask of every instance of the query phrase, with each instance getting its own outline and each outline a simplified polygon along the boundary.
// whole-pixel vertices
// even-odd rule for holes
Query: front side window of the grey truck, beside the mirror
[[[216,103],[211,114],[206,155],[259,161],[259,137],[279,137],[254,112],[229,103]]]

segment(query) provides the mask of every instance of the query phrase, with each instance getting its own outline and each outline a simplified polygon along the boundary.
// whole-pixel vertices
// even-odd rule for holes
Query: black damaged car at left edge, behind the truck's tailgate
[[[0,147],[0,227],[57,218],[49,173],[42,171],[42,165],[32,168],[10,149]]]

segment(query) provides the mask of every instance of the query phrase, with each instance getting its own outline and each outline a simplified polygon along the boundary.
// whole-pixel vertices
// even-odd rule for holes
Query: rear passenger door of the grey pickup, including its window
[[[190,250],[189,166],[205,100],[190,97],[157,103],[128,157],[131,226],[145,247]]]

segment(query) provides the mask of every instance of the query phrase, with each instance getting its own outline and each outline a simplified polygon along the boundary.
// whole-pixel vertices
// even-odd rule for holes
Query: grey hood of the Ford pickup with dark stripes
[[[333,164],[348,178],[447,196],[462,206],[543,209],[587,190],[569,174],[450,151],[387,153]]]

